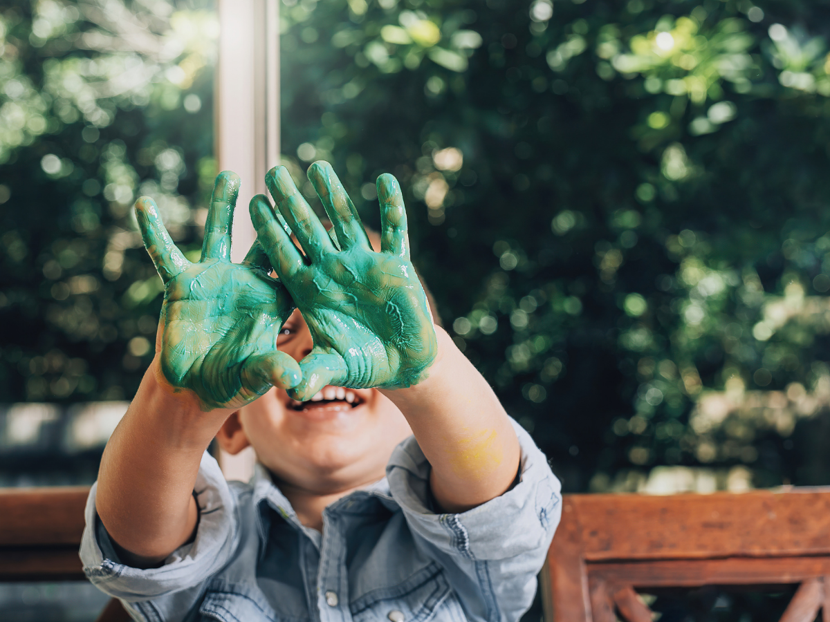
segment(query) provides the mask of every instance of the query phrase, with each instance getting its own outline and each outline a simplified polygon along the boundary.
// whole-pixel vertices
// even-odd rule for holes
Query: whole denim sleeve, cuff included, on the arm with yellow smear
[[[432,511],[431,467],[414,437],[398,445],[387,467],[413,537],[447,570],[470,620],[519,620],[530,608],[562,511],[559,480],[547,459],[511,422],[521,447],[519,481],[467,512]]]

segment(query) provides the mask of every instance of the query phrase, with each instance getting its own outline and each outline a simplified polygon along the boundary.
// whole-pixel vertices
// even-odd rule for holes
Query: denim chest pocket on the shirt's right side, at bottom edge
[[[398,586],[372,590],[349,604],[354,622],[427,622],[440,611],[442,620],[456,620],[456,599],[440,566],[432,562]],[[446,613],[449,613],[447,610]],[[463,617],[458,618],[463,620]]]

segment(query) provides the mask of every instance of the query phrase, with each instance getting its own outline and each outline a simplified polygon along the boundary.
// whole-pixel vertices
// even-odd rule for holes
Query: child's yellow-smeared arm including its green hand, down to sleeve
[[[407,417],[432,464],[432,492],[447,511],[472,508],[510,488],[519,442],[490,386],[441,329],[409,260],[398,182],[378,177],[381,251],[369,245],[358,212],[328,163],[309,169],[332,221],[329,236],[285,168],[266,182],[305,258],[265,197],[251,218],[271,263],[314,338],[289,391],[308,399],[322,386],[378,386]]]

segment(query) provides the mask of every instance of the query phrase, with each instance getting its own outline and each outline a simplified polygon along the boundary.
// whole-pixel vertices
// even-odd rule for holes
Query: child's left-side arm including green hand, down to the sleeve
[[[220,173],[202,260],[179,252],[146,197],[136,202],[144,245],[164,280],[156,356],[101,459],[95,507],[122,561],[152,566],[188,542],[204,450],[233,411],[271,386],[295,386],[300,369],[276,350],[294,305],[255,242],[230,260],[239,178]]]

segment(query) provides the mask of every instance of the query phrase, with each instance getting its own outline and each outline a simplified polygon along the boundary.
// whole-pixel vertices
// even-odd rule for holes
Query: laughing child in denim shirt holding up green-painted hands
[[[242,264],[233,173],[196,264],[136,203],[164,306],[90,492],[86,575],[135,620],[518,620],[559,482],[433,324],[394,177],[379,252],[330,165],[309,178],[331,231],[272,169]],[[214,436],[256,449],[251,484],[222,478]]]

